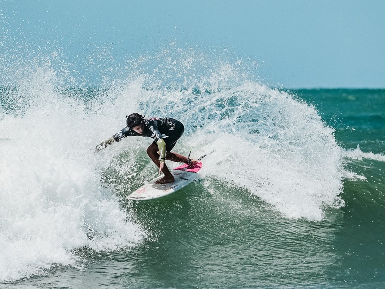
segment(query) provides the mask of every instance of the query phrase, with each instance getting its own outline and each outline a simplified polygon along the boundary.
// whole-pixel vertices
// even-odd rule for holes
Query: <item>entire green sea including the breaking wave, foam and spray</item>
[[[175,48],[88,85],[59,56],[2,67],[0,287],[383,287],[385,90],[271,88]],[[126,200],[151,139],[94,147],[133,112],[184,123],[199,181]]]

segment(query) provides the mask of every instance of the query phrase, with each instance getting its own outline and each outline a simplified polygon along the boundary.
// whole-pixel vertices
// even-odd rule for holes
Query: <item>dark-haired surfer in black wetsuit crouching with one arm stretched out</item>
[[[174,181],[174,176],[167,168],[165,160],[175,161],[176,163],[196,163],[189,157],[172,153],[176,141],[182,136],[184,126],[180,121],[173,118],[149,118],[146,119],[139,113],[133,113],[126,116],[127,126],[119,133],[103,141],[95,147],[95,151],[100,151],[106,146],[121,141],[127,136],[147,136],[154,139],[154,142],[147,148],[147,154],[155,165],[159,168],[159,175],[161,171],[164,177],[156,183],[164,184]]]

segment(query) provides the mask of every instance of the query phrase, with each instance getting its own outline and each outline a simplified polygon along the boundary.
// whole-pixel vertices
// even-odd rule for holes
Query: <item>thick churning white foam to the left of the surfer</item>
[[[97,126],[111,121],[58,94],[54,77],[37,70],[31,85],[19,83],[28,108],[0,121],[0,281],[75,264],[74,248],[114,250],[144,234],[100,181],[110,159],[92,149]]]

